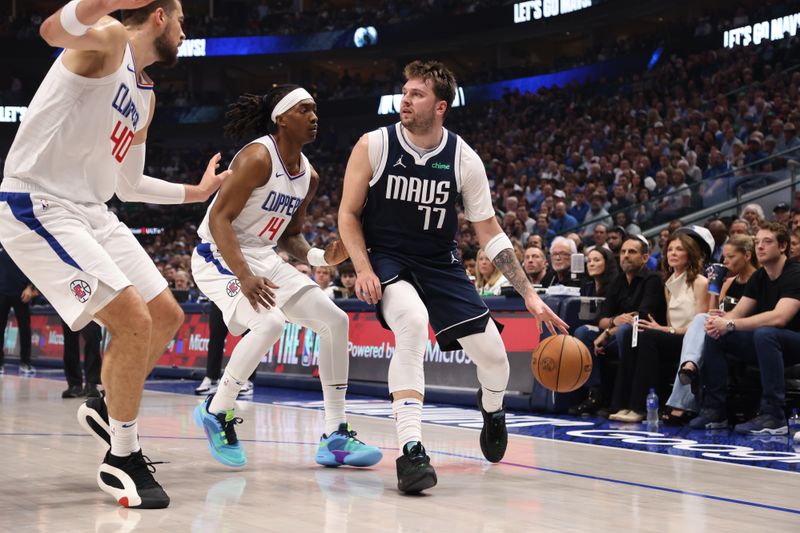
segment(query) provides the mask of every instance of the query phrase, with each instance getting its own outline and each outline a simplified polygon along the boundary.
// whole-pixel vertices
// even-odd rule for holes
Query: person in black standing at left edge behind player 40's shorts
[[[31,366],[31,308],[30,302],[39,293],[25,274],[14,264],[8,252],[0,247],[0,374],[4,372],[5,330],[8,313],[14,309],[19,328],[19,373],[32,375]]]

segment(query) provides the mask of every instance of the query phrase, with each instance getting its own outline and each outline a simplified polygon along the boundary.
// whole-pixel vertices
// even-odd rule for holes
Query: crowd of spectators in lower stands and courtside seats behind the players
[[[739,17],[734,22],[747,21]],[[702,34],[706,26],[701,21],[695,32]],[[731,346],[720,339],[733,329],[720,320],[732,317],[745,324],[749,329],[739,333],[750,334],[747,342],[772,335],[770,341],[796,343],[796,319],[748,322],[769,309],[759,300],[759,306],[737,311],[736,302],[754,295],[750,277],[769,283],[764,268],[771,269],[770,276],[794,275],[800,268],[795,265],[800,261],[800,192],[771,213],[751,204],[736,218],[711,217],[702,231],[687,229],[680,217],[730,198],[753,178],[779,179],[797,172],[798,41],[793,37],[757,47],[675,54],[653,69],[620,79],[535,94],[508,92],[499,101],[452,111],[447,126],[483,160],[497,217],[531,282],[606,298],[597,323],[575,334],[594,356],[616,353],[621,364],[612,376],[604,375],[597,361],[574,414],[605,411],[617,421],[640,422],[644,396],[664,382],[666,361],[675,386],[664,421],[706,429],[727,424],[725,383],[718,374],[727,371],[720,354]],[[302,226],[314,246],[324,247],[337,237],[341,178],[359,133],[323,130],[306,150],[322,177]],[[347,135],[349,142],[342,142]],[[220,149],[223,163],[230,162],[232,146],[176,149],[152,143],[147,173],[194,182],[206,159]],[[129,226],[145,228],[142,242],[170,287],[185,301],[202,299],[192,281],[190,257],[205,206],[112,202],[112,208]],[[665,227],[657,239],[642,236],[659,224]],[[457,245],[476,290],[503,294],[507,280],[480,249],[463,216]],[[585,254],[585,273],[572,271],[578,253]],[[286,259],[330,297],[354,297],[351,263],[312,270]],[[724,263],[732,279],[716,300],[709,298],[713,284],[704,275],[710,263]],[[788,298],[800,300],[796,284],[785,285],[781,290],[788,291]],[[728,314],[717,313],[715,306],[726,302]],[[642,329],[638,349],[630,343],[634,314]],[[765,352],[758,362],[774,356]],[[701,401],[697,383],[705,358],[718,372],[703,374],[711,389]],[[774,369],[768,370],[762,378],[761,414],[743,432],[769,432],[780,423],[783,385]]]

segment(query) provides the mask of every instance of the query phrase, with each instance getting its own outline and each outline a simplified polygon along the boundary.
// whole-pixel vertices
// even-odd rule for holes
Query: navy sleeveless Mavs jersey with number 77
[[[460,192],[458,135],[419,154],[400,124],[381,128],[381,166],[370,181],[362,225],[367,249],[430,256],[455,249]]]

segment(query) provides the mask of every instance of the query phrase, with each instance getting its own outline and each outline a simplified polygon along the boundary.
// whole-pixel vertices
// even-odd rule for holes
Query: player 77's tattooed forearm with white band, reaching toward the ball
[[[559,330],[567,334],[569,326],[536,294],[536,290],[528,281],[528,277],[522,270],[522,265],[520,265],[516,254],[514,254],[511,241],[503,233],[497,219],[491,217],[479,222],[473,222],[472,225],[475,228],[475,235],[478,237],[481,247],[485,249],[487,255],[492,257],[497,269],[503,273],[525,300],[525,307],[528,308],[528,311],[538,320],[544,322],[544,325],[553,335],[557,335]],[[498,251],[494,252],[495,249]]]

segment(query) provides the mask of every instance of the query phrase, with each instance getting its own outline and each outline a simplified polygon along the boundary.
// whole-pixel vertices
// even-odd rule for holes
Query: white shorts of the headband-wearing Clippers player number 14
[[[275,307],[278,309],[301,290],[319,287],[311,278],[281,259],[271,248],[244,248],[242,254],[253,274],[264,276],[278,286],[274,289]],[[214,244],[204,242],[194,249],[192,276],[197,288],[222,311],[222,317],[231,334],[244,333],[247,327],[233,319],[236,306],[244,298],[239,280],[228,268]],[[260,307],[259,311],[264,312]]]

